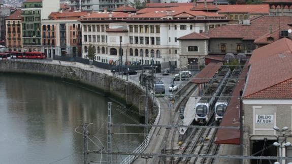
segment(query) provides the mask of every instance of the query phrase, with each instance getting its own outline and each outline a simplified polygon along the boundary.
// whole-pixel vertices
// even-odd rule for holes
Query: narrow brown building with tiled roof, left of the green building
[[[22,49],[22,20],[21,10],[15,11],[6,18],[6,47],[8,51]]]

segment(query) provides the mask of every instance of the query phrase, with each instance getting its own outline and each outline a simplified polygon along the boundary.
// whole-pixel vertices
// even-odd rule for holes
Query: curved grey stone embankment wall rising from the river
[[[13,60],[0,61],[0,72],[35,74],[60,78],[63,81],[78,84],[99,92],[104,96],[112,97],[114,100],[127,106],[134,105],[138,109],[140,107],[139,113],[141,116],[144,116],[145,113],[143,108],[145,106],[145,91],[131,82],[107,74],[69,65]],[[152,108],[151,97],[148,100],[149,108]],[[150,109],[150,111],[152,110]]]

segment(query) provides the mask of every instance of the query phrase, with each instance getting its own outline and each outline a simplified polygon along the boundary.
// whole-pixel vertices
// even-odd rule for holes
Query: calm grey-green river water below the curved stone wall
[[[83,139],[74,129],[92,122],[90,138],[98,146],[91,142],[89,149],[106,147],[107,102],[96,93],[52,79],[0,75],[0,163],[50,163],[61,158],[55,163],[82,162]],[[120,114],[123,110],[113,103],[114,123],[139,120],[132,110],[127,116]],[[113,131],[142,133],[143,129],[115,127]],[[134,150],[142,140],[143,136],[113,135],[113,150]],[[97,160],[99,155],[90,158]]]

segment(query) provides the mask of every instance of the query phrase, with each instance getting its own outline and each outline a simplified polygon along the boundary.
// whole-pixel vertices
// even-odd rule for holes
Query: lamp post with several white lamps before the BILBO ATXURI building
[[[282,127],[280,129],[277,126],[274,126],[273,129],[276,130],[277,132],[281,132],[282,133],[282,135],[279,136],[279,138],[281,137],[283,141],[279,142],[279,138],[278,138],[278,142],[274,142],[273,146],[279,147],[279,149],[280,149],[280,153],[279,153],[280,157],[282,157],[282,156],[285,157],[286,154],[285,154],[285,152],[283,153],[283,148],[291,146],[290,142],[284,143],[286,141],[286,136],[285,136],[286,132],[285,131],[288,130],[288,127],[284,126],[284,127]],[[285,159],[281,159],[280,161],[281,161],[281,163],[285,163]],[[280,163],[280,162],[278,162],[278,163]],[[292,164],[292,162],[289,162],[289,163]],[[277,163],[275,162],[275,164],[277,164]]]

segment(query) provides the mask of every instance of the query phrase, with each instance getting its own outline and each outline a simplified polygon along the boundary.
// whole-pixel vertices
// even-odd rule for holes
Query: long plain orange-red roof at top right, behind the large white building
[[[269,5],[218,5],[222,13],[261,13],[269,14]]]

